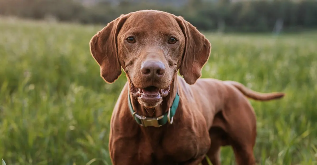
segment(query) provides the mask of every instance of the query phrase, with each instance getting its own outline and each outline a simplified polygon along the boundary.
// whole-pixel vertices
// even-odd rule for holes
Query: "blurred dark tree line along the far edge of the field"
[[[0,0],[0,15],[22,18],[74,21],[82,24],[107,24],[121,14],[141,9],[156,9],[183,16],[199,30],[272,31],[277,21],[294,31],[317,27],[316,0],[235,1],[189,0],[182,6],[120,1],[84,5],[75,0]]]

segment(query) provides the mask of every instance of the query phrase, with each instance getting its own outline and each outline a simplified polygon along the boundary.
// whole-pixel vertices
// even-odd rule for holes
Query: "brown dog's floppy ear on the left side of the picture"
[[[127,19],[121,15],[111,21],[90,40],[90,52],[100,66],[100,75],[107,83],[113,83],[121,75],[117,36]]]

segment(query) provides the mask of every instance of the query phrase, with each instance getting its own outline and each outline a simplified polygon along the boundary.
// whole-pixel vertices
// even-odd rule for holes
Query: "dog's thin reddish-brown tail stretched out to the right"
[[[224,83],[233,85],[239,91],[241,91],[246,97],[252,98],[254,100],[261,100],[261,101],[274,100],[274,99],[282,98],[285,95],[282,92],[272,92],[272,93],[256,92],[236,81],[224,81]]]

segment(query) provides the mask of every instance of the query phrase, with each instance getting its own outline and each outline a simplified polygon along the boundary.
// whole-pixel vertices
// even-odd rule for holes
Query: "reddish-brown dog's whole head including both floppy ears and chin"
[[[130,92],[146,108],[158,106],[177,74],[188,84],[201,76],[209,41],[182,17],[155,10],[121,15],[90,41],[100,73],[108,83],[125,71]]]

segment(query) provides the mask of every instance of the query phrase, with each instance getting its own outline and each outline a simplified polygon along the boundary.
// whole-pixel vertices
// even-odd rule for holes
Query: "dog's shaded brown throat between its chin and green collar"
[[[174,75],[174,78],[171,83],[170,87],[170,93],[166,96],[163,97],[162,103],[155,107],[155,108],[145,108],[139,102],[137,99],[132,99],[131,103],[133,104],[133,109],[136,111],[138,115],[143,115],[147,117],[159,117],[164,115],[168,109],[171,107],[174,98],[176,96],[177,92],[177,73]],[[131,94],[130,97],[132,98]]]

